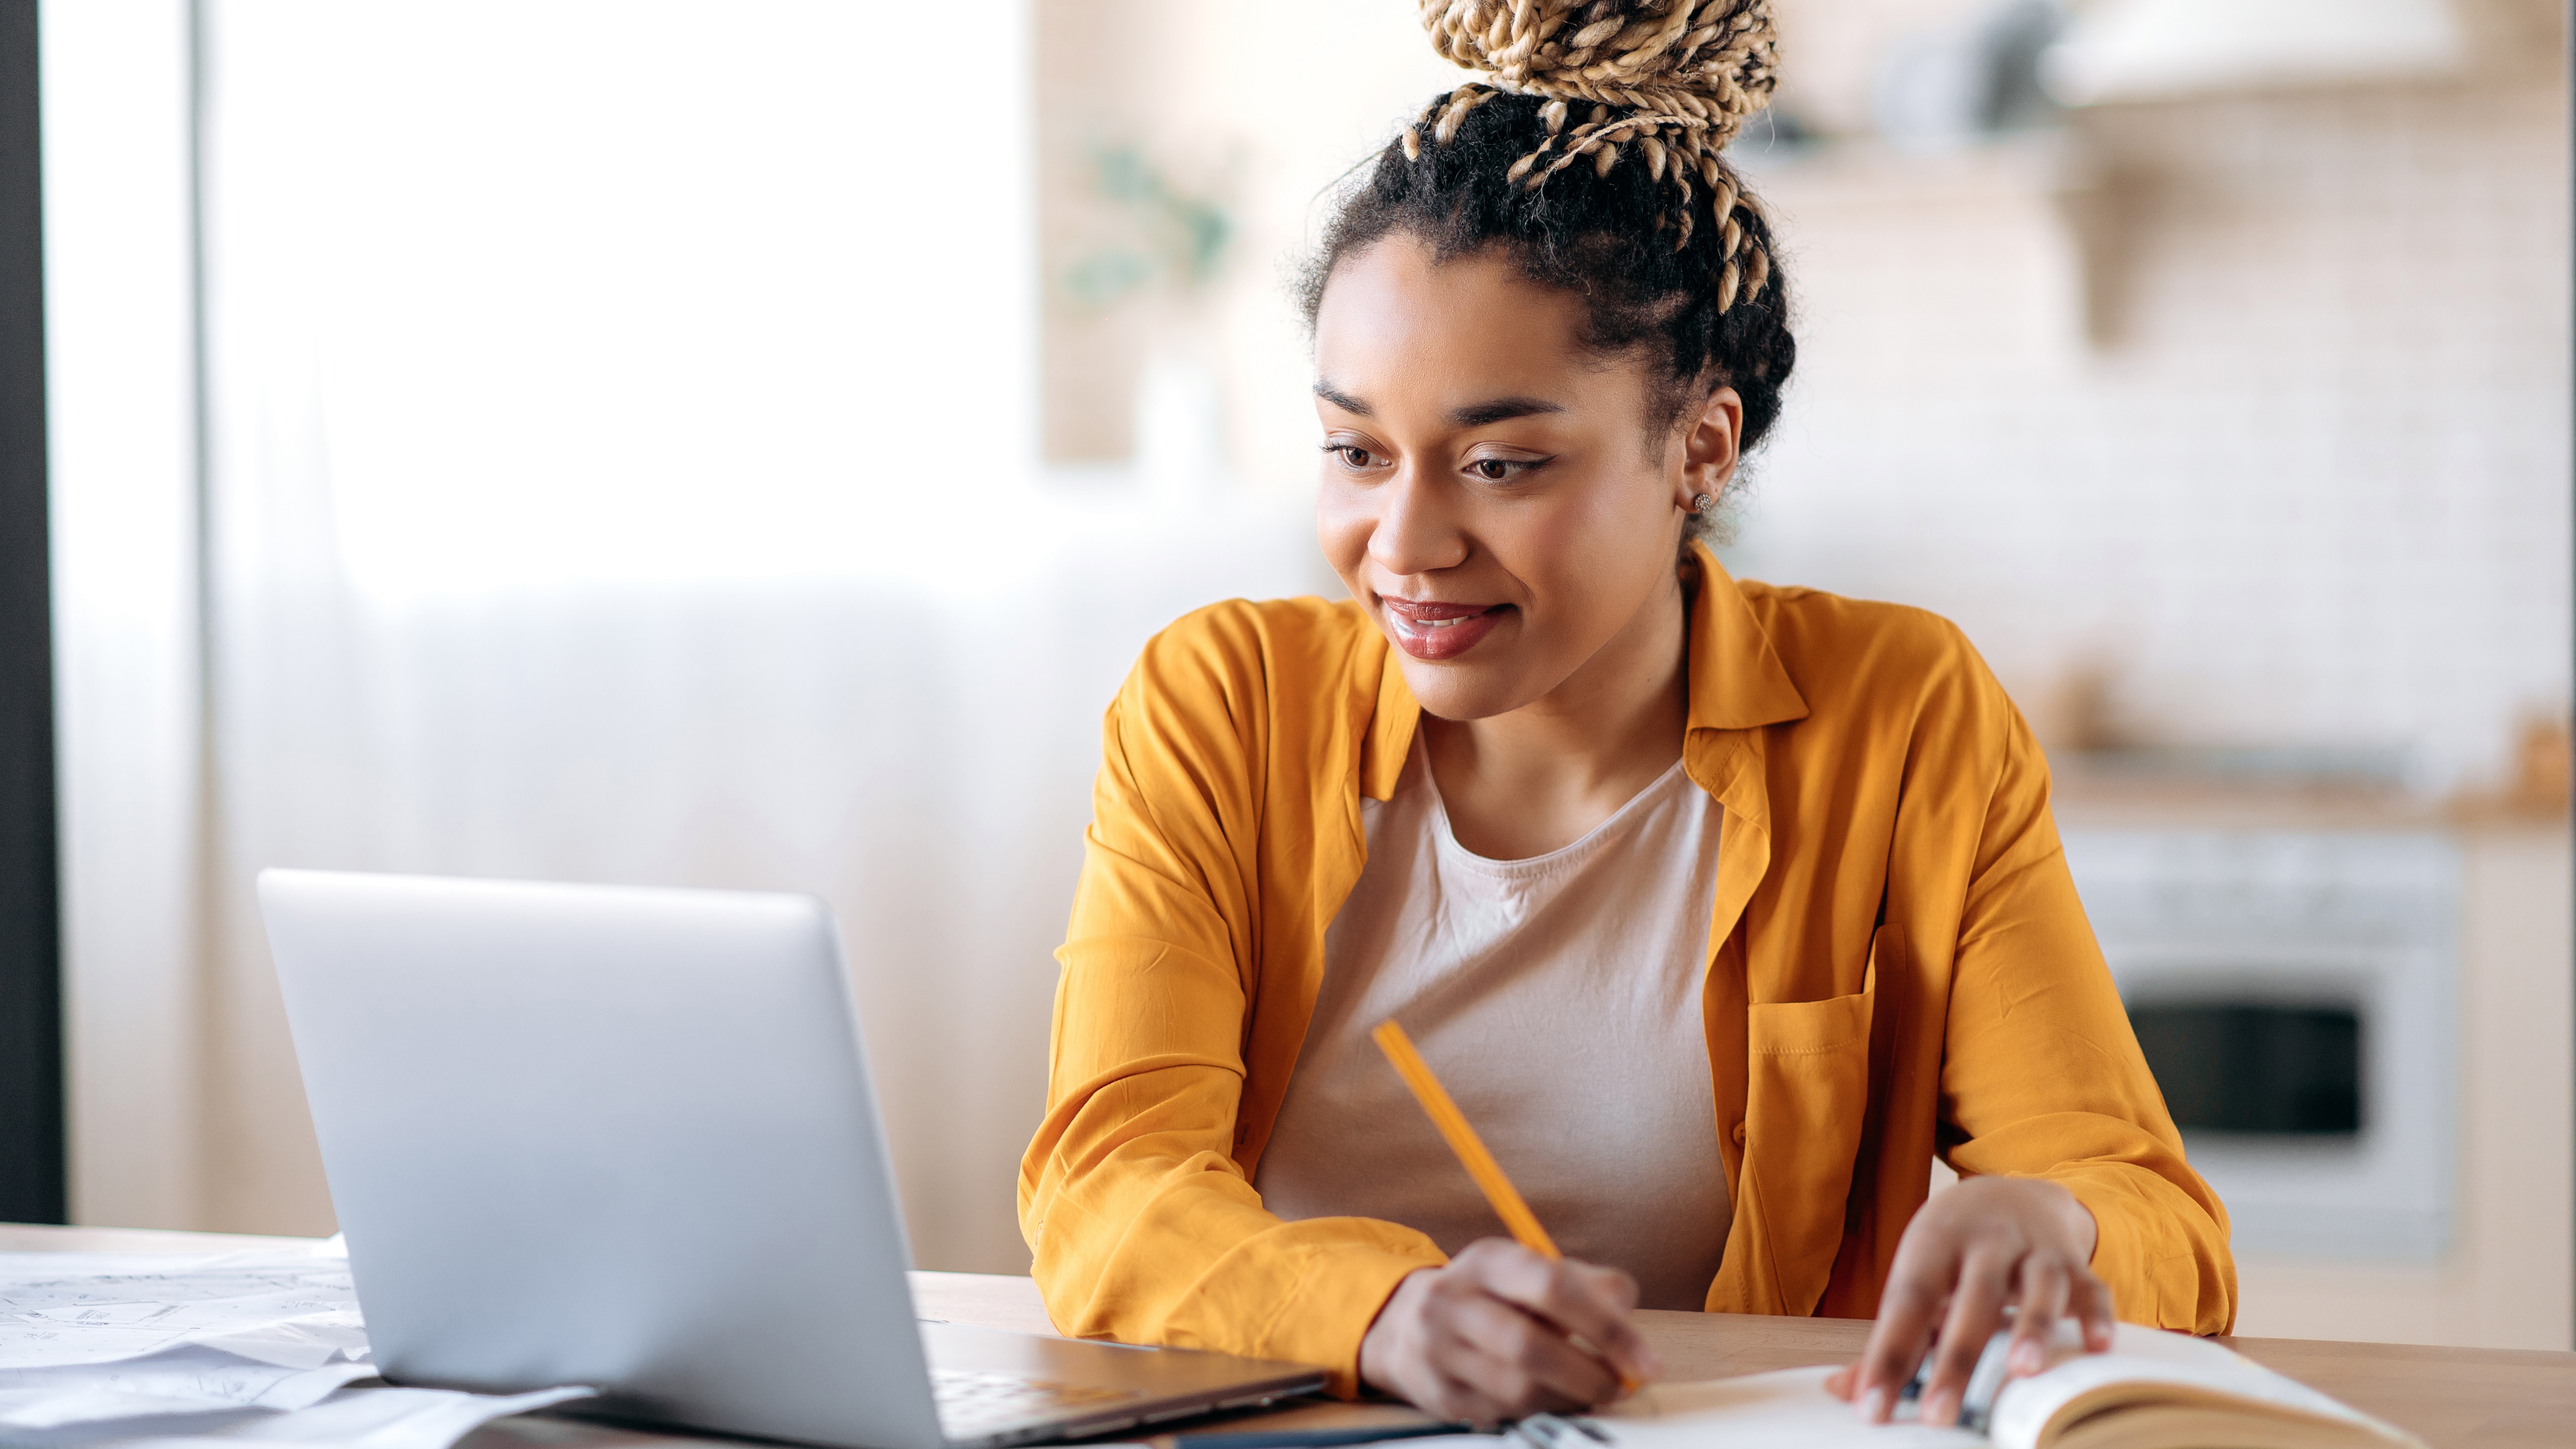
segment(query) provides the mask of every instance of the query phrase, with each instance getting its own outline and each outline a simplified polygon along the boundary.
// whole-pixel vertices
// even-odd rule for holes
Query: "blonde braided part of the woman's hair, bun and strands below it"
[[[1435,98],[1404,131],[1404,155],[1419,160],[1422,131],[1450,144],[1466,116],[1494,95],[1543,101],[1546,139],[1512,162],[1510,180],[1540,188],[1589,157],[1610,175],[1633,147],[1646,175],[1672,191],[1656,229],[1690,245],[1698,209],[1692,180],[1710,191],[1718,227],[1718,312],[1736,297],[1759,297],[1770,281],[1767,227],[1759,204],[1726,165],[1726,144],[1770,103],[1780,83],[1780,36],[1770,0],[1419,0],[1432,46],[1481,72]],[[1571,129],[1571,106],[1589,106]]]

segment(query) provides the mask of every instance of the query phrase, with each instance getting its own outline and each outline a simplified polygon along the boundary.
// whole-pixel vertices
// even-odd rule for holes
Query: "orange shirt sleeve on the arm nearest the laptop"
[[[1260,681],[1167,634],[1103,722],[1020,1232],[1056,1328],[1319,1364],[1443,1263],[1391,1222],[1283,1222],[1236,1163],[1260,887]]]

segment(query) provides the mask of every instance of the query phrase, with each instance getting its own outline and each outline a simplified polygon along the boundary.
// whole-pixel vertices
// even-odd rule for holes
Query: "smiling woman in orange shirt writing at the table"
[[[1960,634],[1705,547],[1795,348],[1721,147],[1767,0],[1425,0],[1484,70],[1306,286],[1350,601],[1221,603],[1105,719],[1020,1222],[1069,1333],[1453,1418],[1654,1377],[1631,1310],[1875,1315],[1924,1413],[2017,1310],[2233,1320],[2226,1212]],[[1497,1238],[1401,1021],[1569,1258]],[[1963,1176],[1927,1201],[1932,1158]]]

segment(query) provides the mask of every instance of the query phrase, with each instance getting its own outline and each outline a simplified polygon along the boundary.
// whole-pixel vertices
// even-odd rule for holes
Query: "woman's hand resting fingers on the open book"
[[[2112,1305],[2110,1289],[2092,1276],[2092,1212],[2058,1183],[1963,1178],[1906,1225],[1870,1346],[1826,1387],[1860,1403],[1862,1421],[1886,1423],[1929,1348],[1922,1423],[1955,1423],[1968,1374],[2004,1325],[2004,1307],[2014,1310],[2004,1359],[2014,1377],[2048,1366],[2058,1318],[2084,1328],[2089,1354],[2107,1351]]]

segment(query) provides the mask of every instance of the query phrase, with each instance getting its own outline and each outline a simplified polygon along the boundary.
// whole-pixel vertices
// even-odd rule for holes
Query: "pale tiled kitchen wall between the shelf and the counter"
[[[1803,351],[1744,572],[1950,614],[2017,691],[2097,665],[2146,740],[2429,789],[2566,709],[2555,64],[1757,186]]]

